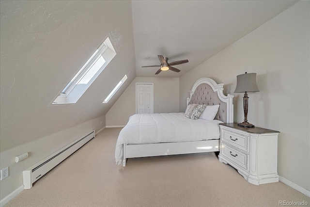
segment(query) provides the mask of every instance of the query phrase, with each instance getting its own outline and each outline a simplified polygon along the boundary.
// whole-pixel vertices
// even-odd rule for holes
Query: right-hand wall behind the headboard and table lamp
[[[236,76],[257,73],[260,92],[248,93],[248,121],[279,130],[278,173],[310,190],[310,1],[300,1],[180,77],[180,111],[188,88],[209,77],[234,97],[234,121],[242,122],[243,94]]]

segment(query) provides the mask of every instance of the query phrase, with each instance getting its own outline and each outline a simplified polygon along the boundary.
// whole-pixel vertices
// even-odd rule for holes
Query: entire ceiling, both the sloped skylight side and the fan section
[[[0,151],[105,115],[136,74],[180,77],[295,2],[1,0]],[[108,67],[77,104],[51,106],[108,36],[117,51]],[[158,76],[158,68],[141,68],[158,64],[159,54],[189,63]]]

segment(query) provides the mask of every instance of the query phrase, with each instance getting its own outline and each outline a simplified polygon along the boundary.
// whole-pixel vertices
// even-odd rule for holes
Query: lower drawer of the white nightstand
[[[248,155],[222,143],[222,154],[236,164],[248,170]]]

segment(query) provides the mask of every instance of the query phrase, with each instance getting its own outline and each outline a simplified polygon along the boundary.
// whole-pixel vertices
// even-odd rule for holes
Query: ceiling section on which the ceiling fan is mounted
[[[133,0],[138,77],[180,77],[292,6],[294,0]],[[253,48],[255,49],[255,48]],[[161,72],[157,55],[181,72]],[[145,59],[145,57],[150,57]],[[228,68],[229,69],[229,68]]]

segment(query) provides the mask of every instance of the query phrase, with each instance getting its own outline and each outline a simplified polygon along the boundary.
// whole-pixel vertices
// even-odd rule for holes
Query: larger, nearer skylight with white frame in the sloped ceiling
[[[115,55],[116,52],[107,38],[63,88],[53,104],[76,103]]]

